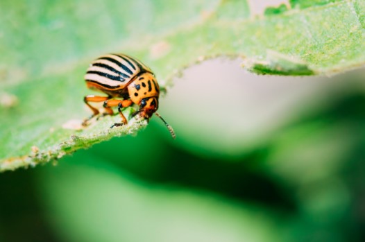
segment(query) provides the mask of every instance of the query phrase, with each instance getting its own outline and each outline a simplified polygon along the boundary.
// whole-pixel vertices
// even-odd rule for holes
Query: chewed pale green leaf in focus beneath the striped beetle
[[[72,129],[90,115],[83,110],[83,96],[92,93],[83,74],[103,53],[143,60],[162,87],[217,55],[244,57],[258,74],[333,74],[364,64],[362,1],[291,4],[303,9],[250,18],[248,4],[238,0],[1,2],[0,171],[49,162],[146,126],[130,120],[110,129],[119,117],[108,116]]]

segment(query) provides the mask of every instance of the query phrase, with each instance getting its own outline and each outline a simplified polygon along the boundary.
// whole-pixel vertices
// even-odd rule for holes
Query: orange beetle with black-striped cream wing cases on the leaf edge
[[[176,135],[171,126],[156,112],[160,87],[155,75],[139,60],[124,54],[101,55],[91,62],[85,74],[85,82],[88,88],[98,90],[108,96],[85,96],[84,102],[90,107],[93,114],[89,119],[83,121],[83,126],[87,126],[87,121],[99,114],[99,110],[90,105],[90,102],[104,102],[105,113],[103,115],[112,115],[112,107],[118,107],[121,123],[114,123],[110,128],[126,125],[128,121],[121,109],[135,103],[139,105],[139,110],[133,116],[138,114],[148,121],[153,114],[156,114],[175,139]]]

